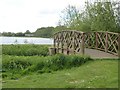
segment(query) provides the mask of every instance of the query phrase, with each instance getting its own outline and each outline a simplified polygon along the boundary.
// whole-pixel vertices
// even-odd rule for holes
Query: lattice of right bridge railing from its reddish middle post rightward
[[[96,32],[96,49],[118,55],[118,33]]]

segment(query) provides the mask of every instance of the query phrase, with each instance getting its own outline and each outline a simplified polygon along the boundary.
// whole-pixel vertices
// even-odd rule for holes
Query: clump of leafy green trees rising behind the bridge
[[[81,31],[118,32],[120,29],[120,9],[118,8],[115,13],[113,2],[110,0],[86,2],[85,10],[81,13],[74,6],[68,6],[62,12],[62,20],[59,23]]]

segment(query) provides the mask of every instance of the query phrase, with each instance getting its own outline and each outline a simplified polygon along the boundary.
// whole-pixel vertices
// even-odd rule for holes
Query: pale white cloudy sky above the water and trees
[[[0,32],[36,31],[56,26],[61,11],[68,5],[78,8],[85,0],[0,0]]]

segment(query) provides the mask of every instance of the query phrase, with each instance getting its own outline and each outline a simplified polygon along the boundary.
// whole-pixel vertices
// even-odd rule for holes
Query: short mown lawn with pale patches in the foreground
[[[3,81],[3,88],[117,88],[118,61],[89,61],[80,67]]]

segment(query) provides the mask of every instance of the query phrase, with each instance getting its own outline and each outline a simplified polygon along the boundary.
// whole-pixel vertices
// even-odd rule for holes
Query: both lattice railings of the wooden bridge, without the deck
[[[54,34],[54,47],[66,47],[67,50],[73,49],[74,53],[80,51],[82,54],[85,47],[94,48],[120,57],[120,33],[63,30]]]

